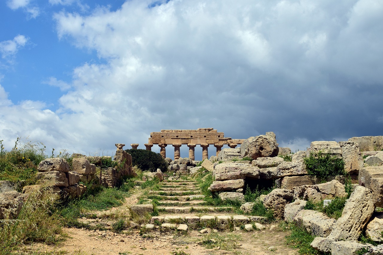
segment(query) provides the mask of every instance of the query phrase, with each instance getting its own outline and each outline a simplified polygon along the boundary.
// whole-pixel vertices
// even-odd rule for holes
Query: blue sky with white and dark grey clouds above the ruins
[[[273,131],[293,151],[383,135],[381,0],[4,0],[0,14],[8,150],[111,155],[200,127]]]

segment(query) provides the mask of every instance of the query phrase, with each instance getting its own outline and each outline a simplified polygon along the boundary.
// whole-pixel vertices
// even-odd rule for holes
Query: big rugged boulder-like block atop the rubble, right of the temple
[[[249,156],[252,159],[259,157],[276,157],[278,155],[278,144],[273,132],[265,135],[252,136],[241,145],[241,157]]]

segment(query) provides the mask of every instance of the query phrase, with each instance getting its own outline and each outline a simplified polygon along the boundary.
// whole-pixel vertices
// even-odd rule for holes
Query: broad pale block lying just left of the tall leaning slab
[[[324,215],[322,212],[308,214],[302,217],[303,226],[314,236],[327,237],[336,220]]]

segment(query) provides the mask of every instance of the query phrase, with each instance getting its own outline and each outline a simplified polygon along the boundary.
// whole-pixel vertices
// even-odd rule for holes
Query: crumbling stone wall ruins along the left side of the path
[[[64,197],[79,198],[87,190],[87,186],[80,182],[95,181],[105,187],[114,187],[122,177],[136,175],[132,168],[132,156],[122,149],[123,146],[124,144],[116,144],[114,162],[117,163],[117,167],[101,170],[103,157],[72,154],[73,171],[69,171],[65,159],[45,159],[38,165],[37,184],[25,186],[22,193],[17,192],[10,181],[0,181],[0,219],[5,216],[10,219],[17,217],[28,194],[42,192],[45,188],[50,188]],[[97,167],[101,170],[100,175],[97,175]]]

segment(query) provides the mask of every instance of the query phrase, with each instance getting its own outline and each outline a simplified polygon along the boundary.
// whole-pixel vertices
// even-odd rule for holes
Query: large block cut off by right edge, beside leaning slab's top
[[[383,206],[383,166],[363,167],[359,171],[358,182],[372,190],[375,206]]]

